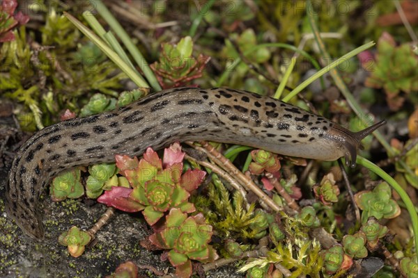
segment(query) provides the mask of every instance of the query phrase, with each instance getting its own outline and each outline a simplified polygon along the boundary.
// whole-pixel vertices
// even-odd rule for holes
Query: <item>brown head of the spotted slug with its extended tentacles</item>
[[[372,126],[358,132],[349,131],[348,129],[344,129],[342,126],[335,124],[330,131],[329,137],[330,139],[336,141],[343,149],[344,158],[346,158],[346,165],[355,167],[357,149],[362,148],[361,141],[380,126],[385,124],[386,121],[382,120],[377,124],[373,124]]]

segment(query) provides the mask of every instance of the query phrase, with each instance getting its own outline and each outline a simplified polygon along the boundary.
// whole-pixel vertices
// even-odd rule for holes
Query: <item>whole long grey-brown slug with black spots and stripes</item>
[[[13,161],[6,211],[32,238],[43,238],[39,198],[50,179],[77,165],[138,156],[175,141],[211,140],[286,156],[355,163],[360,140],[384,121],[353,133],[296,106],[229,88],[173,88],[114,111],[65,120],[27,140]]]

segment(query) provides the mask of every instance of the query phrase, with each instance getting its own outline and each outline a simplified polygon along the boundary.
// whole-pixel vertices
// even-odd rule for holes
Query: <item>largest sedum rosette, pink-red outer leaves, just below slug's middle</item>
[[[183,173],[183,158],[178,143],[164,150],[161,160],[148,148],[144,158],[116,155],[116,166],[130,183],[131,188],[113,187],[98,198],[98,202],[114,206],[122,211],[142,211],[148,224],[160,220],[170,208],[192,213],[196,210],[188,202],[190,192],[203,181],[206,172],[187,170]]]

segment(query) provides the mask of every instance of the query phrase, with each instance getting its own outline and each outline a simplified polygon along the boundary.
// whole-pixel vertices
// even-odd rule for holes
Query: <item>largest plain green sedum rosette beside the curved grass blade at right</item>
[[[373,216],[376,219],[396,218],[401,208],[392,199],[392,190],[386,182],[380,183],[372,191],[364,190],[354,195],[355,203],[362,209],[362,223]]]

